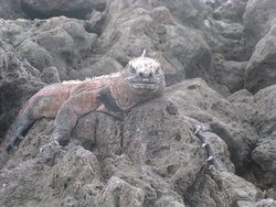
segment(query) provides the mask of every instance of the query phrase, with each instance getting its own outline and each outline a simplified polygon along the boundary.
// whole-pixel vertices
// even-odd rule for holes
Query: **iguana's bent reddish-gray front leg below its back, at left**
[[[53,141],[65,142],[77,119],[99,107],[100,100],[97,90],[84,91],[70,97],[60,108],[54,122]]]

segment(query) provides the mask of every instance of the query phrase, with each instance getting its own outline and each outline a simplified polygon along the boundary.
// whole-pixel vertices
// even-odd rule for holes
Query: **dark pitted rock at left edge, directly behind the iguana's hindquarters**
[[[0,40],[0,137],[15,118],[20,107],[44,84],[41,73],[20,61],[15,51]],[[0,141],[1,142],[1,141]]]

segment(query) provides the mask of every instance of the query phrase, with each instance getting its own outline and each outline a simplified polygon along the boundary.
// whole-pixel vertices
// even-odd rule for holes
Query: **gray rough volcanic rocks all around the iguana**
[[[0,142],[43,86],[121,70],[144,48],[168,85],[123,121],[84,116],[63,148],[36,121],[0,150],[1,207],[276,206],[275,0],[2,0],[0,18]]]

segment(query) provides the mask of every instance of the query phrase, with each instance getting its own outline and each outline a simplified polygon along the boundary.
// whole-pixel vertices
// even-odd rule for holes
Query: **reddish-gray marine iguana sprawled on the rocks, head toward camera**
[[[67,141],[77,119],[91,111],[116,118],[139,102],[162,96],[164,76],[160,64],[148,57],[131,59],[124,72],[84,81],[50,85],[21,109],[8,132],[7,151],[14,148],[22,133],[43,117],[55,118],[53,141]]]

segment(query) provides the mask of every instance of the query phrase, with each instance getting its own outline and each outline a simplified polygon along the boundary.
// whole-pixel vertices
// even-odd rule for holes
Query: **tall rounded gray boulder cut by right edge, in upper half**
[[[255,46],[245,74],[245,88],[252,92],[276,83],[274,46],[276,44],[276,21],[269,32]]]

